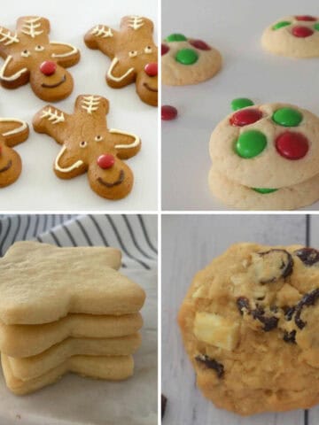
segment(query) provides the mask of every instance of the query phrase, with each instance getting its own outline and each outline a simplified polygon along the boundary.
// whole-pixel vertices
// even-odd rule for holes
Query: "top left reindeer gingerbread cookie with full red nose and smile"
[[[15,32],[0,27],[4,88],[16,89],[30,82],[35,95],[48,102],[71,94],[74,81],[65,68],[78,63],[80,52],[71,44],[51,42],[49,33],[49,20],[35,16],[19,18]]]

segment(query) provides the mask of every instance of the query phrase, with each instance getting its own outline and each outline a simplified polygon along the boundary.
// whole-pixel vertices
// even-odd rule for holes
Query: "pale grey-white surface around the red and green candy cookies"
[[[193,86],[163,86],[162,104],[178,109],[162,121],[164,210],[224,210],[211,195],[208,142],[236,97],[258,103],[287,102],[319,115],[319,58],[280,58],[261,49],[261,34],[276,19],[319,15],[315,0],[162,0],[162,36],[181,32],[222,52],[223,68]],[[319,203],[312,208],[319,209]]]

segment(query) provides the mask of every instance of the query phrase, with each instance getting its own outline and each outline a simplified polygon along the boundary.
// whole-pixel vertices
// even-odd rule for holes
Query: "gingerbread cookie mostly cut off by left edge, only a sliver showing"
[[[19,178],[21,158],[12,147],[25,142],[28,134],[27,122],[0,118],[0,188],[9,186]]]

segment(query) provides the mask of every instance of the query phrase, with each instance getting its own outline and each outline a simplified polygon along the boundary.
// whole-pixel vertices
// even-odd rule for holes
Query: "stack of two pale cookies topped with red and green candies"
[[[318,132],[318,117],[298,106],[238,108],[211,136],[210,189],[240,209],[292,210],[313,204],[319,199]]]

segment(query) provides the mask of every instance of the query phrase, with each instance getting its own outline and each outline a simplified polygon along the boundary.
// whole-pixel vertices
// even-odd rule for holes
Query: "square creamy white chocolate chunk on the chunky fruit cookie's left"
[[[239,325],[215,313],[196,313],[194,335],[199,341],[223,350],[234,350],[239,339]]]

